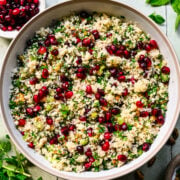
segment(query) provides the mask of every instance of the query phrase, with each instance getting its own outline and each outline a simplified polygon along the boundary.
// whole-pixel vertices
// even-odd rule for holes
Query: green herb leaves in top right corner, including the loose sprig
[[[176,22],[175,22],[175,30],[178,29],[178,27],[180,25],[180,0],[146,0],[146,3],[150,4],[151,6],[163,6],[163,5],[167,5],[170,3],[174,12],[177,13]],[[153,17],[151,17],[151,19],[153,19],[156,23],[159,22],[159,20],[157,20],[157,17],[153,16]],[[159,17],[158,17],[158,19],[159,19]]]

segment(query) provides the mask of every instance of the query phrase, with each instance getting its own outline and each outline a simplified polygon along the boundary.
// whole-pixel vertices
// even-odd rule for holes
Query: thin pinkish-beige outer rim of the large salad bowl
[[[77,2],[97,2],[97,0],[77,0]],[[117,2],[116,0],[101,0],[101,2],[105,2],[105,3],[109,3],[109,4],[114,4],[114,5],[118,5],[118,6],[122,6],[126,9],[129,9],[130,11],[138,14],[139,16],[141,16],[142,18],[144,18],[146,21],[148,21],[153,27],[154,29],[161,35],[161,37],[164,39],[164,41],[166,42],[166,44],[168,45],[168,48],[170,50],[170,52],[172,53],[172,57],[173,57],[173,63],[175,64],[175,68],[176,68],[176,71],[177,71],[177,77],[178,79],[180,79],[180,66],[179,66],[179,62],[178,62],[178,58],[175,54],[175,51],[170,43],[170,41],[168,40],[168,38],[166,37],[166,35],[160,30],[160,28],[150,19],[148,18],[147,16],[145,16],[143,13],[139,12],[138,10],[136,10],[135,8],[127,5],[126,3],[123,3],[123,2]],[[31,26],[35,21],[37,21],[41,16],[43,16],[44,14],[46,14],[47,11],[49,10],[53,10],[53,9],[56,9],[58,6],[67,6],[69,4],[73,4],[73,3],[76,3],[76,0],[67,0],[65,2],[60,2],[52,7],[49,7],[47,8],[46,10],[44,10],[43,12],[41,12],[40,14],[38,14],[37,16],[33,17],[20,31],[19,31],[19,34],[16,36],[16,38],[10,43],[10,46],[8,48],[8,50],[6,51],[6,54],[4,56],[4,59],[3,59],[3,62],[2,62],[2,66],[1,66],[1,69],[0,69],[0,84],[2,85],[3,84],[3,74],[4,74],[4,67],[6,66],[6,63],[7,63],[7,59],[10,55],[10,52],[11,52],[11,49],[14,47],[15,45],[15,42],[16,42],[16,39],[19,38],[19,36],[21,36],[21,34],[23,34],[26,29]],[[179,82],[179,81],[178,81]],[[177,88],[178,88],[178,92],[180,92],[180,83],[178,83],[177,85]],[[144,158],[142,159],[141,161],[139,161],[138,163],[136,163],[136,166],[133,166],[127,170],[124,170],[124,171],[121,171],[121,172],[116,172],[112,175],[106,175],[106,176],[100,176],[100,177],[76,177],[76,175],[69,175],[69,174],[65,174],[65,173],[61,173],[60,171],[56,171],[56,170],[51,170],[49,168],[47,168],[46,166],[44,166],[43,164],[39,163],[36,159],[31,159],[31,157],[29,156],[29,153],[26,153],[24,151],[24,149],[21,148],[21,145],[16,142],[16,138],[15,138],[15,135],[14,133],[12,132],[11,128],[8,126],[7,124],[7,121],[6,121],[6,116],[5,116],[5,110],[4,110],[4,106],[3,106],[3,96],[2,96],[2,86],[0,86],[0,111],[1,111],[1,114],[2,114],[2,120],[5,124],[5,127],[8,131],[8,134],[10,135],[10,138],[12,140],[12,142],[16,145],[16,147],[18,148],[18,150],[24,154],[27,159],[29,161],[31,161],[33,164],[35,164],[37,167],[41,168],[42,170],[45,170],[46,172],[54,175],[54,176],[58,176],[58,177],[61,177],[61,178],[68,178],[68,179],[76,179],[76,180],[84,180],[84,179],[113,179],[113,178],[116,178],[116,177],[120,177],[120,176],[123,176],[123,175],[126,175],[136,169],[138,169],[139,167],[141,167],[142,165],[144,165],[146,162],[148,162],[153,156],[155,156],[159,151],[160,149],[164,146],[164,144],[166,143],[167,139],[169,138],[169,136],[171,135],[175,125],[176,125],[176,122],[177,122],[177,119],[178,119],[178,116],[179,116],[179,112],[180,112],[180,95],[178,95],[178,100],[177,102],[179,102],[176,106],[176,111],[175,111],[175,114],[174,114],[174,118],[172,119],[172,123],[170,124],[169,126],[169,131],[166,135],[166,138],[164,138],[160,143],[159,145],[154,149],[154,151],[151,152],[151,154],[149,155],[148,158]]]

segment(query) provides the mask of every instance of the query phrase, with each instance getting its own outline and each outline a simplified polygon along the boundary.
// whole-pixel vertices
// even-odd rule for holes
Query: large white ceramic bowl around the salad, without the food
[[[21,54],[24,50],[26,40],[31,38],[36,30],[42,26],[48,26],[53,19],[60,18],[65,15],[69,15],[74,11],[87,10],[106,12],[115,16],[124,15],[128,20],[136,21],[140,27],[147,33],[149,33],[153,39],[159,44],[160,50],[168,62],[168,66],[171,68],[170,83],[169,83],[169,103],[168,111],[166,113],[166,122],[162,126],[159,135],[152,144],[150,150],[144,153],[139,158],[132,162],[120,167],[101,172],[62,172],[51,167],[50,163],[46,161],[38,153],[28,148],[23,141],[21,134],[17,131],[13,119],[10,114],[8,106],[9,102],[9,88],[11,86],[11,71],[16,67],[16,55]],[[166,36],[160,31],[160,29],[147,17],[138,12],[137,10],[123,4],[107,0],[78,0],[67,1],[65,3],[58,4],[45,10],[33,18],[18,34],[18,36],[11,43],[8,52],[5,56],[3,66],[1,69],[0,79],[0,99],[1,110],[5,125],[9,132],[9,135],[17,146],[17,148],[35,165],[39,166],[43,170],[65,178],[76,180],[87,179],[112,179],[115,177],[123,176],[131,171],[139,168],[151,159],[166,143],[174,126],[176,124],[179,110],[180,110],[180,69],[177,57],[174,53],[172,46],[170,45]]]

